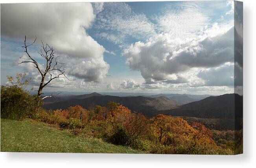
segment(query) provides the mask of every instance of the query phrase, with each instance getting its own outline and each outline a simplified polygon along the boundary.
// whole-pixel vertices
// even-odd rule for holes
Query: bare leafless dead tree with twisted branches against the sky
[[[44,44],[42,41],[42,48],[40,50],[40,52],[38,52],[41,57],[43,57],[45,60],[46,60],[46,64],[45,64],[45,67],[42,68],[39,66],[38,62],[35,60],[35,58],[31,57],[31,55],[29,55],[28,53],[28,47],[33,45],[35,43],[35,41],[37,40],[37,37],[35,37],[35,40],[34,42],[32,42],[31,44],[27,45],[26,44],[26,36],[25,36],[25,40],[24,40],[24,47],[25,48],[25,53],[26,55],[28,56],[28,58],[21,58],[21,59],[24,59],[24,61],[22,62],[19,62],[18,64],[22,64],[22,63],[33,63],[34,67],[37,68],[37,70],[39,71],[40,75],[41,75],[41,82],[40,82],[40,85],[39,85],[39,89],[37,90],[37,95],[38,96],[41,96],[43,93],[42,93],[42,89],[47,85],[49,84],[53,79],[57,79],[57,78],[66,78],[66,75],[65,75],[65,70],[63,68],[63,63],[59,62],[57,59],[59,57],[55,57],[54,55],[54,49],[53,47],[50,47],[47,43]],[[45,77],[46,75],[50,75],[50,79],[48,81],[45,82]],[[46,97],[53,97],[52,96],[46,96]],[[46,97],[43,97],[42,99],[46,98]]]

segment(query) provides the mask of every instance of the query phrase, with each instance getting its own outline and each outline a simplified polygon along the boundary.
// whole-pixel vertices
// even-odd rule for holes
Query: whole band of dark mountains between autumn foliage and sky
[[[107,106],[108,102],[114,101],[123,104],[132,111],[143,113],[147,117],[155,116],[158,113],[172,116],[215,119],[232,119],[235,115],[236,117],[243,116],[243,96],[238,94],[207,96],[208,95],[158,94],[119,97],[94,92],[84,95],[58,96],[57,100],[53,97],[44,99],[44,108],[47,110],[66,109],[76,104],[88,108],[96,104]],[[197,101],[198,99],[199,101]],[[236,108],[234,106],[235,101]]]

